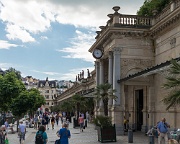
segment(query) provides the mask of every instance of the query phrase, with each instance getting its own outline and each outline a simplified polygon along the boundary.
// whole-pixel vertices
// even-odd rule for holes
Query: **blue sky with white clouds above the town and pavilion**
[[[136,14],[144,0],[0,0],[0,68],[72,80],[94,70],[89,48],[113,7]]]

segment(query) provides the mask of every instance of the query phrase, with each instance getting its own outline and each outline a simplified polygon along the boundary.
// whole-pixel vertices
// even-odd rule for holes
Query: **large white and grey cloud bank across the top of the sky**
[[[98,28],[114,13],[112,7],[120,5],[120,13],[135,14],[144,0],[1,0],[0,19],[7,24],[7,38],[34,42],[33,34],[42,33],[52,22],[76,27]],[[14,30],[14,31],[13,31]]]

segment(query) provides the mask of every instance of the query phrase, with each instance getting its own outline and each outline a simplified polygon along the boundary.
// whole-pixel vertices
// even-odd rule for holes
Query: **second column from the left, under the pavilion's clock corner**
[[[99,84],[104,83],[104,62],[101,59],[100,60],[100,79],[99,79]],[[98,115],[103,115],[104,114],[104,107],[103,107],[103,101],[102,99],[99,101],[99,109],[98,109]]]

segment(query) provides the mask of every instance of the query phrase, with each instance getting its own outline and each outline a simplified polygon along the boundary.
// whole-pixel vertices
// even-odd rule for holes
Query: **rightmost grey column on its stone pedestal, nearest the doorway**
[[[115,47],[113,54],[113,89],[116,90],[114,93],[117,96],[116,100],[113,100],[113,107],[112,107],[112,122],[116,125],[116,134],[117,135],[123,135],[124,134],[124,128],[123,128],[123,108],[121,105],[121,88],[120,84],[117,83],[117,80],[120,79],[121,73],[120,73],[120,47]]]

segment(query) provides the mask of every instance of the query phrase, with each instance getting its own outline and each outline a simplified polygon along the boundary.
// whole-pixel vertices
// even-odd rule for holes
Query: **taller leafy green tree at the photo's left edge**
[[[0,109],[7,111],[12,100],[24,90],[26,90],[25,86],[15,72],[8,72],[4,76],[0,75]]]

